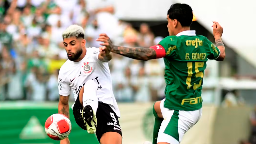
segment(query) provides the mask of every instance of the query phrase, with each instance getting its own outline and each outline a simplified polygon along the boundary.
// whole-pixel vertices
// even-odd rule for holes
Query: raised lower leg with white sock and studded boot
[[[88,80],[79,93],[79,101],[81,105],[83,105],[81,115],[88,133],[96,132],[96,112],[98,108],[98,97],[96,92],[97,84],[93,80]]]

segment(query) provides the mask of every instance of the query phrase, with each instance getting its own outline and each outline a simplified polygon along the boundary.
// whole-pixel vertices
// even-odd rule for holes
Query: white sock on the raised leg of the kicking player
[[[88,80],[84,85],[83,106],[91,106],[95,115],[99,105],[96,92],[97,84],[93,80]]]

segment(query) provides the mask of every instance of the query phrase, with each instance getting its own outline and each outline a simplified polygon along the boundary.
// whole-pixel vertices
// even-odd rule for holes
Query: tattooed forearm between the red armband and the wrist
[[[147,61],[156,58],[156,51],[152,48],[128,48],[124,46],[113,46],[114,53],[132,58]]]

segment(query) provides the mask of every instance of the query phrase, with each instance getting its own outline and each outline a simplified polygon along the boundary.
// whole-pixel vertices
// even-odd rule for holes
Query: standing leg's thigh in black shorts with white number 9
[[[107,136],[111,137],[110,140],[118,142],[121,139],[122,141],[122,130],[118,117],[108,104],[99,102],[96,117],[98,121],[96,136],[99,142],[108,142]]]

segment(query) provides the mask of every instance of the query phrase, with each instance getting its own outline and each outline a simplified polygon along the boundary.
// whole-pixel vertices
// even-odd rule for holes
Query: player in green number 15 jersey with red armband
[[[164,58],[165,99],[154,104],[155,125],[153,144],[179,144],[184,134],[202,114],[201,90],[208,59],[223,61],[225,47],[223,28],[213,22],[216,47],[204,36],[190,30],[193,13],[187,4],[173,4],[167,13],[170,36],[150,48],[115,46],[106,34],[102,51],[111,51],[138,60]]]

